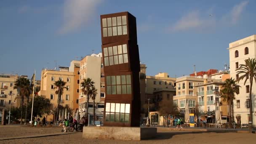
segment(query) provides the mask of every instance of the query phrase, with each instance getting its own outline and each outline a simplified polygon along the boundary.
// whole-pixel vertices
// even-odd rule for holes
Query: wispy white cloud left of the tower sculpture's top
[[[85,25],[101,0],[67,0],[63,8],[64,23],[58,33],[65,34]]]

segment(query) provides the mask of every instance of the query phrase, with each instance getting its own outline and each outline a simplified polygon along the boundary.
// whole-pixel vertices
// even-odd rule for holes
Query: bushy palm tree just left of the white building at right
[[[224,101],[227,100],[229,104],[229,128],[231,128],[231,121],[234,121],[234,114],[233,113],[233,100],[235,99],[235,93],[239,93],[239,85],[235,82],[235,79],[225,80],[225,82],[221,85],[221,97],[224,98]]]

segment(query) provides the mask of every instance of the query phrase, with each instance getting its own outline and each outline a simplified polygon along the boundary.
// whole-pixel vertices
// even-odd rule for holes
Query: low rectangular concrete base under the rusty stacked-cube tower
[[[152,139],[157,134],[157,128],[140,127],[83,127],[85,139],[118,139],[137,140]]]

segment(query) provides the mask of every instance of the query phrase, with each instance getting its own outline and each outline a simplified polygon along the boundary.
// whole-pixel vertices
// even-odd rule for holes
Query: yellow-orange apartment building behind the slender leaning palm
[[[41,72],[41,85],[39,96],[45,96],[50,99],[52,107],[57,107],[58,95],[55,94],[54,83],[58,80],[66,82],[67,90],[64,89],[60,99],[60,105],[63,107],[69,107],[71,109],[78,109],[78,94],[79,84],[79,67],[80,61],[72,61],[70,67],[59,67],[56,69],[43,69]],[[53,117],[48,117],[48,120],[53,120]]]

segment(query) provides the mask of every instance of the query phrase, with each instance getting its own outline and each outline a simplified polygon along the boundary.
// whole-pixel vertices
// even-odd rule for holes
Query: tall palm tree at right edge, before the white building
[[[244,85],[246,81],[249,79],[250,81],[250,94],[249,94],[249,102],[250,102],[250,117],[249,121],[249,131],[252,132],[252,124],[253,124],[253,113],[252,113],[252,99],[251,99],[251,89],[253,87],[253,79],[256,82],[256,59],[246,59],[245,64],[240,64],[240,67],[237,69],[237,75],[242,74],[240,77],[238,77],[237,82],[239,83],[240,80],[243,80],[245,78]]]

